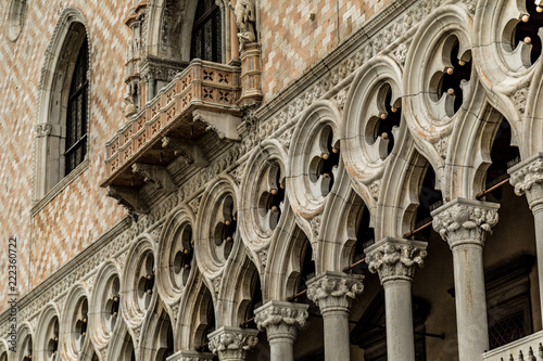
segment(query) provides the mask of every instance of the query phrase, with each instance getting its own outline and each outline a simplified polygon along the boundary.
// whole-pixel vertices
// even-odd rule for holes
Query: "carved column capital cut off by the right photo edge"
[[[538,153],[509,169],[517,195],[526,194],[530,208],[543,205],[543,153]]]

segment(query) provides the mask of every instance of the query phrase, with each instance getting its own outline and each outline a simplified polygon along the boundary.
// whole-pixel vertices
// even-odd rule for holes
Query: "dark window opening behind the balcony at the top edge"
[[[220,8],[214,0],[200,0],[192,27],[191,59],[223,61],[223,25]]]

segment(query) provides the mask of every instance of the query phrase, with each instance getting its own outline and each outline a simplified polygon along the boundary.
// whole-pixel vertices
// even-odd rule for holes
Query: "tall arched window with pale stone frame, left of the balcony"
[[[35,127],[33,214],[88,168],[89,39],[85,17],[64,11],[46,52]]]

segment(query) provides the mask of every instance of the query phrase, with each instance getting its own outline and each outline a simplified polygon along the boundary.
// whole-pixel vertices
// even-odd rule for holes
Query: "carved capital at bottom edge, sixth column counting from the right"
[[[210,350],[220,361],[244,361],[247,352],[258,344],[258,331],[240,327],[220,327],[212,332]]]

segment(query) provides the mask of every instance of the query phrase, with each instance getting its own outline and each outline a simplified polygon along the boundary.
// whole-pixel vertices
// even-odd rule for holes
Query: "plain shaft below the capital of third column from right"
[[[387,358],[415,361],[412,282],[391,280],[383,283],[383,288],[387,310]]]

